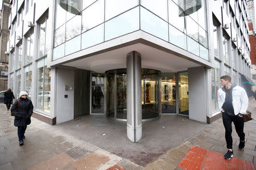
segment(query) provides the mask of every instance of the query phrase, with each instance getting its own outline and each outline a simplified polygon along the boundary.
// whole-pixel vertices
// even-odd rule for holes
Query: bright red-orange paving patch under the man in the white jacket
[[[207,150],[205,148],[192,146],[184,158],[179,163],[178,167],[185,170],[193,169],[236,169],[236,170],[256,170],[256,164],[245,160],[231,158],[226,160],[224,154]],[[236,156],[236,155],[234,155]]]

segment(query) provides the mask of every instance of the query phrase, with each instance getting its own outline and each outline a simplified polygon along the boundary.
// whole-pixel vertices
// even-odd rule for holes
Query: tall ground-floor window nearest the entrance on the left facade
[[[36,108],[44,112],[50,111],[51,70],[46,65],[47,57],[37,63]]]

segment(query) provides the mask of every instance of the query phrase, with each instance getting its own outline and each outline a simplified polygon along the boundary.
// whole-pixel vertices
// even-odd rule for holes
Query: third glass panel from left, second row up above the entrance
[[[93,17],[92,17],[93,16]],[[82,32],[104,22],[104,0],[98,0],[82,11]]]

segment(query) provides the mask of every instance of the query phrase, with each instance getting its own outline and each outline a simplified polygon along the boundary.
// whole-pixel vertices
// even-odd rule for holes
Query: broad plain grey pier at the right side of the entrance
[[[204,67],[188,69],[189,119],[207,122],[207,74]]]

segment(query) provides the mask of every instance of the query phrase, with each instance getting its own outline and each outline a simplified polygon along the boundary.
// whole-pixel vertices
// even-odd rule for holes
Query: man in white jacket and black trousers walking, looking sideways
[[[225,159],[233,157],[232,122],[240,138],[239,148],[245,147],[245,133],[243,133],[243,114],[246,114],[248,97],[245,90],[231,83],[229,75],[221,76],[222,88],[218,90],[218,107],[222,113],[222,121],[225,127],[225,139],[228,152]]]

